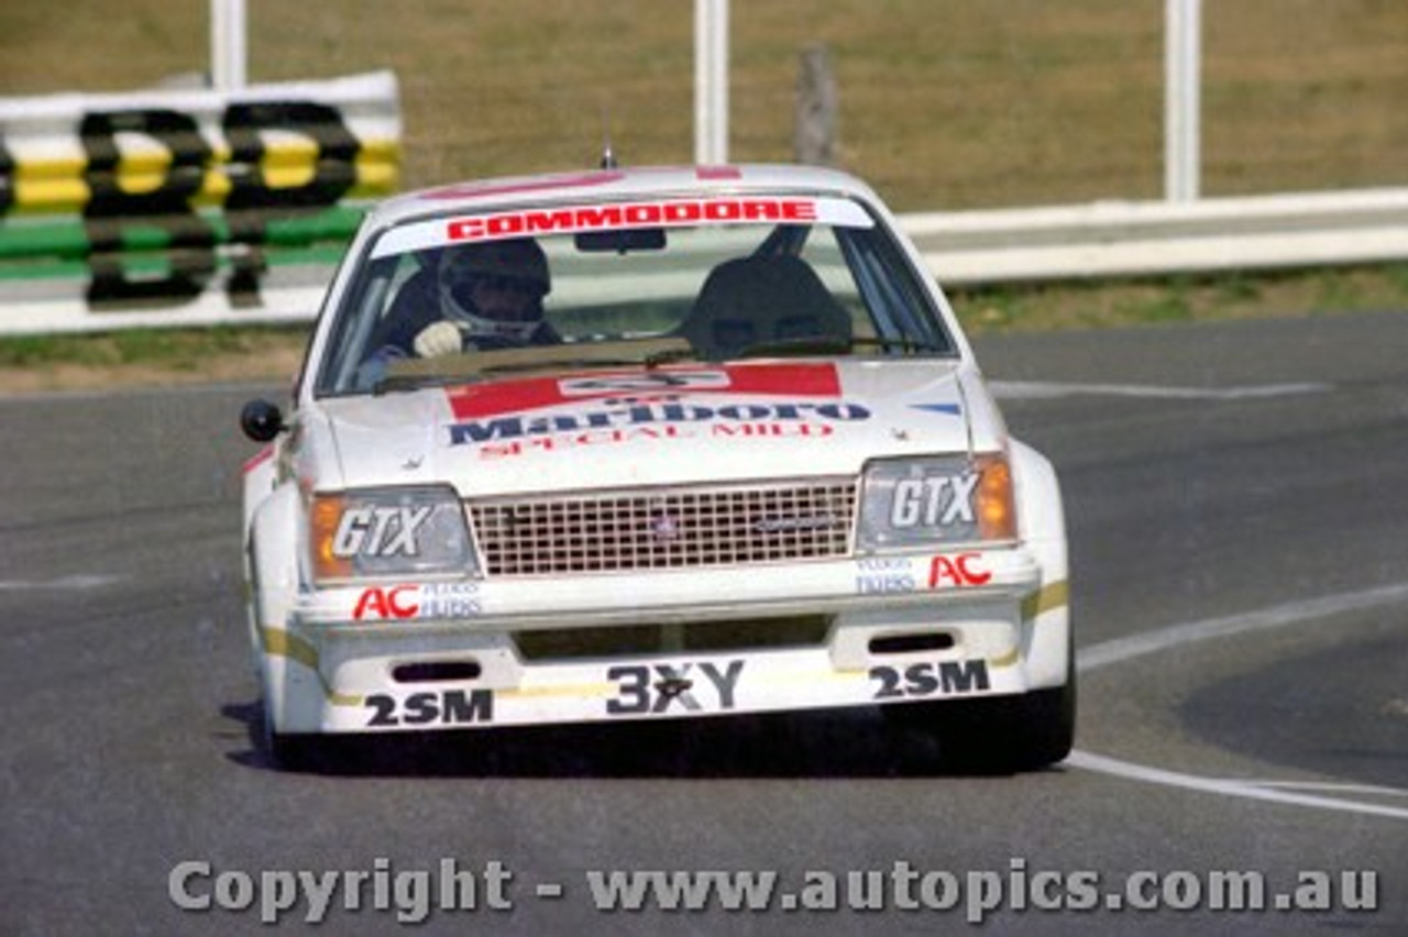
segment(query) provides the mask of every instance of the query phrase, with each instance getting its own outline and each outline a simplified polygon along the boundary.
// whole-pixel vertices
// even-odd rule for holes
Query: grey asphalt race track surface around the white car
[[[277,391],[0,400],[0,934],[298,931],[300,871],[362,874],[332,879],[337,934],[1405,934],[1404,349],[1408,314],[980,345],[1073,544],[1079,750],[1019,777],[946,772],[870,713],[273,772],[235,416]],[[446,868],[473,907],[417,900]],[[612,869],[787,893],[598,910]],[[1226,872],[1267,910],[1214,909]]]

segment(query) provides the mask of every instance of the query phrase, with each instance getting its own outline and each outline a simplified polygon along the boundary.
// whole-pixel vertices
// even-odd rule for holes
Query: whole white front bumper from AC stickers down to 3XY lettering
[[[355,733],[1021,694],[1064,682],[1069,616],[1010,549],[321,589],[260,643],[279,732]]]

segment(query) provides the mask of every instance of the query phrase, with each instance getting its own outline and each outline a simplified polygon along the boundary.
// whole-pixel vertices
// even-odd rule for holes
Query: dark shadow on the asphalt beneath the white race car
[[[246,768],[277,770],[260,741],[259,702],[227,705],[222,715],[245,725],[249,743],[248,748],[228,751],[225,757]],[[342,736],[324,740],[317,757],[303,770],[324,775],[413,778],[991,775],[948,764],[942,739],[891,725],[866,709]]]

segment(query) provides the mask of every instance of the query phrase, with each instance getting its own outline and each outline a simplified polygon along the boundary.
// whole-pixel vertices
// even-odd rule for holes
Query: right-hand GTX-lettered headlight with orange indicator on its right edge
[[[1012,470],[1000,453],[884,460],[866,468],[862,550],[1015,539]]]

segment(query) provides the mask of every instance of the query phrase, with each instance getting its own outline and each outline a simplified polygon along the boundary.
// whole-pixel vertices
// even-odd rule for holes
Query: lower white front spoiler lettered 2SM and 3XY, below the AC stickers
[[[826,604],[825,637],[805,647],[541,660],[520,651],[511,626],[483,619],[294,622],[263,632],[266,692],[279,732],[360,733],[835,709],[1060,685],[1066,584],[1017,578],[1025,581]],[[735,605],[735,616],[741,608],[749,606]],[[446,668],[456,677],[436,675]],[[408,673],[414,680],[398,678]]]

